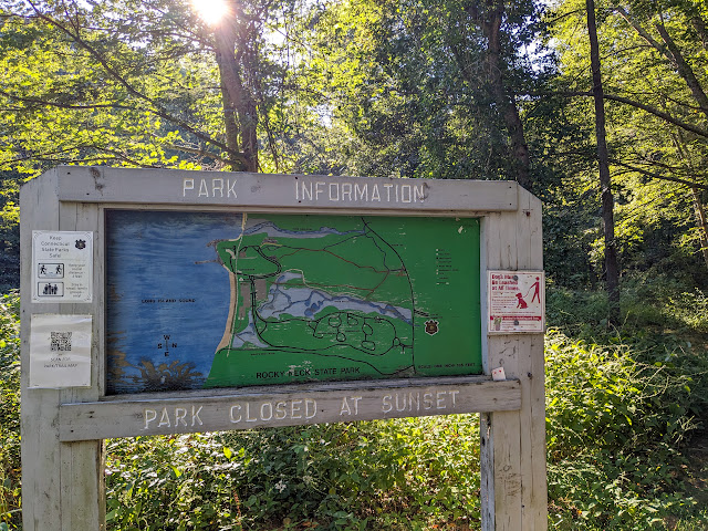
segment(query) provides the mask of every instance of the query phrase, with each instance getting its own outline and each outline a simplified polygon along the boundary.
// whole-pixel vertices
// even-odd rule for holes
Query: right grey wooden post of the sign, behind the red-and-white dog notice
[[[483,218],[486,269],[542,270],[541,231],[541,201],[519,188],[519,208],[514,212]],[[482,530],[545,530],[543,334],[490,334],[486,373],[496,367],[503,367],[508,378],[520,381],[521,409],[480,416]]]

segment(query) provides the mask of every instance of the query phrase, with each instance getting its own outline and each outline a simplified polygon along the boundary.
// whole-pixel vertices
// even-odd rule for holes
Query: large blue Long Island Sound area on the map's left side
[[[241,222],[241,215],[107,212],[108,393],[204,384],[230,295],[209,242],[238,238]]]

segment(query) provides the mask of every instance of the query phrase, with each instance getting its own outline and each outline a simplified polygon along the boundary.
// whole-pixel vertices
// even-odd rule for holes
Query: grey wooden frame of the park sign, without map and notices
[[[516,183],[65,166],[25,184],[20,206],[27,531],[105,529],[104,438],[471,412],[481,418],[482,529],[546,529],[543,334],[487,333],[483,303],[480,376],[105,394],[106,209],[475,217],[486,301],[488,271],[543,267],[541,202]],[[93,235],[91,302],[33,301],[32,231]],[[30,387],[32,315],[49,314],[92,317],[88,387]]]

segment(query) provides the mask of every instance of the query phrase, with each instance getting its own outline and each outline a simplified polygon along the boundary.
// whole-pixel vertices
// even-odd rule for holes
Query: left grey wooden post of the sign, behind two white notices
[[[21,232],[31,242],[32,230],[95,230],[100,223],[95,205],[60,204],[58,170],[23,186],[20,208]],[[97,241],[94,241],[96,243]],[[95,246],[101,252],[101,246]],[[100,258],[100,257],[97,257]],[[94,285],[102,285],[103,268],[95,261]],[[97,399],[102,395],[103,366],[93,364],[90,388],[29,388],[30,325],[33,314],[93,314],[93,358],[102,360],[100,319],[103,295],[94,293],[91,304],[31,302],[32,246],[21,248],[22,278],[22,521],[25,531],[76,531],[105,529],[103,440],[61,442],[60,404]]]

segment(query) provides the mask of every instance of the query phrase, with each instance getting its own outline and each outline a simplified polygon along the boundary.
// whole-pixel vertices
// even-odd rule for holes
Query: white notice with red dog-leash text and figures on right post
[[[543,271],[489,271],[489,332],[545,332]]]

